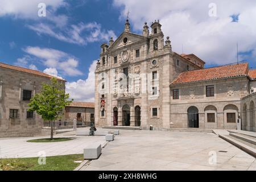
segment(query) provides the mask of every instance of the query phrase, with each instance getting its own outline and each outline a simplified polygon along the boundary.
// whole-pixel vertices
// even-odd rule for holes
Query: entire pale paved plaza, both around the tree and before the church
[[[47,156],[82,154],[83,148],[89,144],[106,144],[104,136],[77,137],[73,131],[55,135],[63,136],[76,139],[55,143],[26,142],[29,139],[46,137],[0,139],[0,158],[37,157],[40,151],[45,151]],[[216,164],[209,163],[209,152],[216,152]],[[256,170],[256,161],[253,156],[213,133],[120,130],[115,140],[102,148],[100,158],[87,162],[80,169]]]

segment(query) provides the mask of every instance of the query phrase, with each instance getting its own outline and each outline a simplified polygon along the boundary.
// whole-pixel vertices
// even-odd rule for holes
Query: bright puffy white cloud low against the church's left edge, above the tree
[[[66,83],[66,92],[75,101],[94,102],[94,71],[97,61],[93,61],[89,68],[88,78],[86,80],[77,80],[76,82]]]

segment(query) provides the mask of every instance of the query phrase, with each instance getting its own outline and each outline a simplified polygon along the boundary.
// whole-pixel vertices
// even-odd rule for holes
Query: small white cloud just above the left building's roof
[[[56,71],[60,71],[61,75],[82,75],[82,72],[77,69],[79,66],[79,61],[68,53],[56,49],[40,47],[26,47],[23,49],[23,51],[36,57],[37,59],[40,59],[40,61],[49,68],[47,71],[53,71],[52,68],[55,68]],[[18,59],[18,61],[24,60]]]

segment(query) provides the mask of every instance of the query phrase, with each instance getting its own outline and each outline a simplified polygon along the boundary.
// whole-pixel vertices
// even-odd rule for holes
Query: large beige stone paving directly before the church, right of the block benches
[[[209,163],[215,151],[217,163]],[[226,152],[221,152],[226,151]],[[129,131],[106,145],[84,170],[253,170],[255,158],[216,134],[175,131]]]

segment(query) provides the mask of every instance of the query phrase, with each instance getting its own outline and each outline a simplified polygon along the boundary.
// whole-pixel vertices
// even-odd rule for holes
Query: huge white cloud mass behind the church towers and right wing
[[[237,42],[240,52],[254,50],[256,1],[216,0],[216,17],[208,15],[210,3],[209,0],[114,0],[115,6],[123,7],[120,19],[125,19],[130,10],[134,31],[142,30],[146,21],[159,19],[164,35],[170,36],[172,49],[178,53],[183,45],[184,53],[195,53],[209,64],[226,64],[236,61]],[[239,14],[237,23],[230,17],[234,14]],[[252,56],[250,59],[256,60]]]

